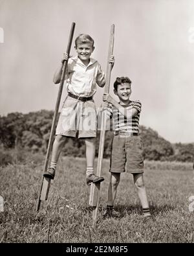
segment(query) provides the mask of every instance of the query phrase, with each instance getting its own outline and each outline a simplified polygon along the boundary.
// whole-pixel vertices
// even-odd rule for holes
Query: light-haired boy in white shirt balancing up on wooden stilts
[[[43,176],[54,179],[59,154],[65,145],[66,137],[85,139],[86,145],[86,181],[98,183],[104,180],[94,174],[94,156],[96,142],[96,108],[93,96],[97,85],[105,85],[105,75],[97,60],[91,58],[94,51],[94,40],[88,34],[80,34],[75,40],[75,49],[78,56],[69,58],[64,53],[61,64],[54,74],[54,84],[61,80],[63,62],[68,60],[67,92],[68,96],[63,102],[63,108],[56,128],[56,138],[52,146],[50,167]],[[109,63],[114,65],[114,57],[111,56]]]

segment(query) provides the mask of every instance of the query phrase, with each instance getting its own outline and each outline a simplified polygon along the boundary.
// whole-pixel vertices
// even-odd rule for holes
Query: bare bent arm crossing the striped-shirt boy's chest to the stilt
[[[124,117],[132,118],[135,117],[135,115],[137,115],[139,112],[136,108],[131,108],[131,110],[127,110],[118,102],[116,102],[116,100],[114,100],[108,93],[103,94],[103,100],[111,103],[118,111],[120,111],[122,115],[124,115]]]

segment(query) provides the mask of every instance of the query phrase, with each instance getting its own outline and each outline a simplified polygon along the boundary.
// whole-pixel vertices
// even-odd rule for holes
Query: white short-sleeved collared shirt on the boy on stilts
[[[80,58],[69,58],[67,74],[67,91],[80,97],[91,97],[96,93],[96,85],[103,87],[105,74],[97,60],[90,58],[85,66]]]

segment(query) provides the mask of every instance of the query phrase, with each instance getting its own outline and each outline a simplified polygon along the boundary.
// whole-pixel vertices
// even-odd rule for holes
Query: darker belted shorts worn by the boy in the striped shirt
[[[144,172],[143,145],[140,136],[114,135],[110,172]]]

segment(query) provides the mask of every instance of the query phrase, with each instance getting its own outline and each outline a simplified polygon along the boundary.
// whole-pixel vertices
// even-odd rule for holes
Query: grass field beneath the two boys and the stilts
[[[59,159],[47,202],[36,213],[44,158],[0,169],[1,242],[194,242],[194,176],[189,163],[145,161],[145,183],[153,220],[145,221],[133,178],[123,174],[118,187],[116,210],[120,218],[105,218],[109,160],[103,161],[98,225],[92,229],[89,187],[85,184],[85,159]],[[95,161],[96,164],[96,161]]]

